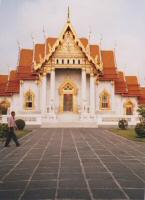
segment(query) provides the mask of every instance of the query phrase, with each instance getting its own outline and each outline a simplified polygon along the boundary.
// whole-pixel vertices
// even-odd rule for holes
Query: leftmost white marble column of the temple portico
[[[46,88],[47,87],[47,76],[43,75],[42,78],[42,95],[41,95],[41,109],[42,113],[46,113]]]

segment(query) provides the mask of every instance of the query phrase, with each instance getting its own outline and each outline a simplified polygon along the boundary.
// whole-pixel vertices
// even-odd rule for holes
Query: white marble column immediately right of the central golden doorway
[[[82,112],[85,112],[86,108],[86,70],[82,69]]]

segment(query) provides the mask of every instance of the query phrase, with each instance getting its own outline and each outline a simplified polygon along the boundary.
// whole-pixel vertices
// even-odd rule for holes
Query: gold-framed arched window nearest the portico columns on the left
[[[24,102],[24,107],[25,107],[26,110],[33,110],[34,109],[34,99],[35,99],[35,95],[31,90],[26,92],[25,102]]]

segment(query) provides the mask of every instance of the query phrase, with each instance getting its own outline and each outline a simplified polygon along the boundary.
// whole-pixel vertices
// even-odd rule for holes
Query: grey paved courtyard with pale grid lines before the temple
[[[0,145],[0,200],[144,200],[145,144],[105,129],[35,129]]]

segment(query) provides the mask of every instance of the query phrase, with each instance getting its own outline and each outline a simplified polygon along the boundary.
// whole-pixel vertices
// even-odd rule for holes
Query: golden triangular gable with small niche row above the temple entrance
[[[49,72],[51,68],[86,68],[87,73],[100,73],[97,62],[88,54],[77,37],[71,22],[67,22],[60,37],[56,40],[46,59],[38,68]]]

